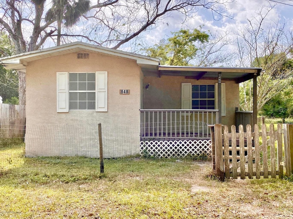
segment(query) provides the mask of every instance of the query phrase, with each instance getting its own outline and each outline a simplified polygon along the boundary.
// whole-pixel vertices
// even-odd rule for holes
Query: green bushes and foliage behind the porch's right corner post
[[[282,52],[256,58],[251,67],[265,69],[265,72],[258,77],[258,110],[260,110],[260,114],[276,118],[290,116],[291,97],[289,90],[293,88],[293,60],[288,59],[287,55]],[[252,92],[252,80],[242,83],[240,86],[242,110],[252,110]],[[284,112],[284,108],[289,111]]]

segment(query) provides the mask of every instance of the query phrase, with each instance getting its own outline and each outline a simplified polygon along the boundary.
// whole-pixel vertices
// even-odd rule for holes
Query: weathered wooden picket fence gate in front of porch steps
[[[239,133],[236,133],[233,125],[229,133],[228,126],[215,124],[211,127],[213,168],[221,180],[239,176],[241,179],[246,176],[269,178],[269,175],[282,178],[284,167],[286,176],[293,174],[293,125],[278,124],[277,131],[274,124],[270,124],[269,131],[265,124],[261,131],[257,124],[253,128],[254,132],[248,124],[244,132],[243,125],[239,125]]]

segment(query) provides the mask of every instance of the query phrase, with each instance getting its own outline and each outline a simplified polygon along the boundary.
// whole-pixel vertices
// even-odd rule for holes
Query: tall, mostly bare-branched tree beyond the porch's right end
[[[248,25],[239,27],[237,47],[239,67],[260,67],[257,77],[257,109],[275,99],[293,79],[293,31],[280,22],[266,22],[272,8],[262,7]],[[252,110],[252,80],[240,86],[240,106]],[[280,94],[281,95],[281,94]],[[281,96],[278,96],[279,98]]]

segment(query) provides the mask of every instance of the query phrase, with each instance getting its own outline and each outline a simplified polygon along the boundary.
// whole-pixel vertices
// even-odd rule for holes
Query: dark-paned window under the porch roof
[[[215,86],[192,85],[192,109],[215,109]]]

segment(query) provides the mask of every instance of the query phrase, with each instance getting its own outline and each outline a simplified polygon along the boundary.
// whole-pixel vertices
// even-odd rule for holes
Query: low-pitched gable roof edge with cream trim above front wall
[[[49,58],[57,55],[75,53],[79,51],[93,51],[98,53],[105,53],[107,55],[129,58],[136,60],[138,65],[143,66],[159,65],[159,59],[157,58],[152,58],[146,55],[138,55],[135,53],[125,52],[117,49],[106,48],[103,46],[96,46],[93,44],[83,42],[73,42],[69,44],[63,44],[60,46],[39,49],[31,52],[5,56],[0,58],[0,64],[3,65],[6,69],[16,69],[25,72],[28,62],[43,58]]]

